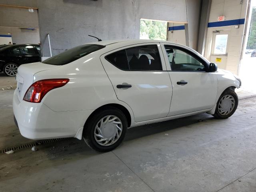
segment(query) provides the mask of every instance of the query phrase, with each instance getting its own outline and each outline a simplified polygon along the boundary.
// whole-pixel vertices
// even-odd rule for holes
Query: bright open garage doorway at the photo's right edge
[[[242,80],[244,94],[256,94],[256,0],[248,8],[247,29],[238,76]]]

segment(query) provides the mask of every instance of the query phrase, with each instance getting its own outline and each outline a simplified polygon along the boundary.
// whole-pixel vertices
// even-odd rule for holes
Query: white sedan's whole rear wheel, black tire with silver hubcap
[[[84,126],[83,138],[86,144],[97,151],[114,150],[124,140],[127,119],[124,113],[108,107],[94,114]]]

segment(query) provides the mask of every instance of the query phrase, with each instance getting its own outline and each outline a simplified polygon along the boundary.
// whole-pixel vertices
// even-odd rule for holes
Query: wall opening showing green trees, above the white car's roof
[[[140,39],[166,40],[167,22],[140,19]]]

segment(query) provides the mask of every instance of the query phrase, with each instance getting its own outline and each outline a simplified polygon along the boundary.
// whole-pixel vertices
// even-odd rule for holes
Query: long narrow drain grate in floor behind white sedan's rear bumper
[[[25,148],[31,148],[33,146],[38,146],[38,145],[42,145],[42,144],[52,143],[52,142],[56,142],[56,141],[62,141],[62,140],[66,140],[66,139],[68,139],[68,138],[39,140],[39,141],[36,141],[36,142],[33,142],[33,143],[22,144],[20,146],[15,146],[15,147],[9,147],[9,148],[6,148],[6,149],[2,149],[2,150],[0,150],[0,154],[5,153],[5,152],[10,151],[10,150],[16,151],[16,150],[25,149]]]

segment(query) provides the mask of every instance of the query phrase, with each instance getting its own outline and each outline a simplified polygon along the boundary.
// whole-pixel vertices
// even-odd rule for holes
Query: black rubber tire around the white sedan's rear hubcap
[[[114,115],[120,119],[120,121],[122,122],[122,133],[121,133],[119,139],[114,144],[109,145],[109,146],[102,146],[102,145],[98,144],[98,142],[94,138],[94,129],[95,129],[97,123],[102,118],[104,118],[105,116],[108,116],[108,115]],[[124,113],[121,110],[119,110],[118,108],[109,106],[107,108],[103,108],[101,111],[94,114],[88,120],[88,122],[86,122],[86,124],[84,125],[83,138],[84,138],[84,141],[86,142],[86,144],[90,148],[92,148],[96,151],[99,151],[99,152],[112,151],[116,147],[118,147],[121,144],[121,142],[124,140],[124,137],[127,132],[127,126],[128,126],[127,119],[126,119],[126,116],[124,115]]]

